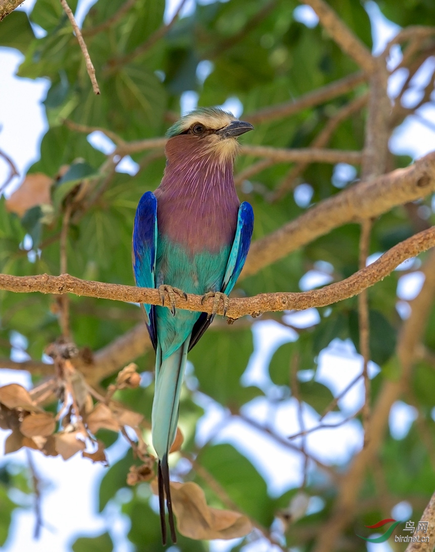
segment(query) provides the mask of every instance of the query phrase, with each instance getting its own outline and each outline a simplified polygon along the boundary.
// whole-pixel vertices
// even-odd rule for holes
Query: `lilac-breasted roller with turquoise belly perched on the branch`
[[[162,306],[141,305],[156,351],[151,435],[158,457],[160,523],[177,542],[169,488],[168,454],[177,431],[187,353],[213,321],[245,264],[253,231],[252,206],[237,197],[233,167],[237,137],[253,129],[220,108],[185,114],[166,133],[166,167],[154,193],[137,205],[132,237],[136,285],[157,288]],[[175,309],[176,295],[213,298],[211,315]],[[169,298],[171,309],[165,307]]]

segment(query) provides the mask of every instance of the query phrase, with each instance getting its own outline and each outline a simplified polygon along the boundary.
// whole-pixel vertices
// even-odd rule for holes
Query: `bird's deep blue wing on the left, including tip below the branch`
[[[156,287],[157,251],[157,199],[146,192],[137,205],[133,230],[133,270],[136,285],[141,288]],[[157,349],[156,307],[144,305],[146,326],[154,349]]]

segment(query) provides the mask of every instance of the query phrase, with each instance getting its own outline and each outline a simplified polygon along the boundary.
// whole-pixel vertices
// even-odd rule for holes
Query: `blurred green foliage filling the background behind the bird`
[[[76,4],[70,2],[73,11]],[[328,4],[371,51],[372,30],[367,6],[353,0],[328,0]],[[134,283],[132,221],[141,194],[154,190],[160,183],[165,168],[163,149],[131,153],[131,160],[137,163],[130,163],[136,167],[135,174],[118,172],[116,166],[120,159],[111,158],[106,150],[100,151],[97,140],[88,139],[89,135],[96,136],[92,134],[95,129],[106,129],[129,142],[161,137],[179,116],[181,98],[186,98],[187,92],[192,97],[194,92],[198,105],[221,105],[231,98],[232,104],[240,105],[242,113],[237,115],[242,119],[249,121],[251,114],[254,122],[257,116],[255,131],[243,136],[243,144],[280,148],[312,146],[337,114],[367,93],[369,84],[367,78],[361,78],[347,92],[331,95],[291,116],[264,116],[259,120],[258,113],[264,108],[291,103],[359,71],[356,62],[328,37],[321,24],[314,21],[307,25],[296,17],[298,5],[291,0],[198,1],[187,13],[182,12],[182,17],[164,21],[163,0],[98,0],[84,18],[82,31],[96,67],[99,96],[93,93],[77,39],[57,0],[37,0],[29,17],[19,11],[8,15],[0,24],[0,45],[24,54],[19,77],[50,79],[44,101],[50,126],[41,142],[40,159],[28,169],[23,184],[25,193],[15,199],[13,195],[9,200],[0,199],[1,272],[59,274],[62,221],[69,209],[68,273],[100,282]],[[425,25],[435,18],[435,5],[429,1],[383,0],[377,5],[386,18],[402,27]],[[405,77],[396,95],[395,120],[389,136],[406,116],[431,101],[431,56],[435,41],[428,36],[424,41],[406,43],[409,48],[412,45],[415,52],[408,56],[408,65],[397,69],[404,70]],[[390,61],[393,54],[396,56],[396,65],[394,60],[390,63],[391,73],[404,59],[402,51],[409,52],[405,46],[395,48],[390,55]],[[429,76],[422,86],[415,84],[412,77],[424,63]],[[417,95],[407,99],[412,87],[417,89]],[[358,108],[349,111],[331,132],[327,147],[363,149],[367,109],[360,101]],[[65,119],[70,123],[66,124]],[[410,162],[409,157],[389,153],[386,169],[391,171]],[[250,201],[254,208],[253,240],[296,219],[310,206],[342,193],[343,188],[360,176],[359,166],[315,163],[302,167],[300,174],[289,182],[289,171],[295,165],[273,161],[263,161],[261,165],[248,155],[237,159],[235,173],[243,177],[254,165],[256,172],[251,171],[250,176],[237,181],[240,199]],[[274,195],[277,190],[281,190],[279,197]],[[81,194],[79,200],[77,194]],[[30,198],[30,206],[23,203],[23,198]],[[431,226],[434,220],[430,195],[397,206],[373,221],[368,253],[384,252]],[[272,266],[242,278],[236,294],[297,291],[301,289],[301,282],[306,282],[303,278],[313,273],[325,283],[346,278],[358,269],[359,237],[359,224],[341,226]],[[425,258],[408,263],[406,273],[420,274]],[[400,301],[401,309],[397,308],[397,284],[404,273],[395,271],[368,291],[370,360],[376,374],[370,394],[372,406],[376,405],[385,385],[400,378],[397,343],[404,319],[409,315],[405,301]],[[0,356],[3,359],[0,364],[3,360],[5,367],[14,368],[9,360],[11,336],[16,332],[25,337],[26,353],[38,364],[46,347],[59,339],[61,308],[59,300],[49,295],[1,292]],[[80,351],[77,369],[104,393],[114,383],[118,371],[134,360],[144,373],[142,384],[135,389],[116,391],[115,399],[150,420],[155,357],[141,329],[139,309],[121,302],[71,296],[69,311],[71,337]],[[245,386],[243,380],[241,383],[242,375],[254,348],[260,346],[256,326],[267,319],[274,321],[274,325],[268,326],[272,328],[270,332],[278,332],[277,325],[280,325],[285,330],[290,328],[291,334],[285,340],[287,343],[280,346],[275,343],[270,354],[262,359],[261,382]],[[318,316],[304,327],[292,320],[284,313],[266,314],[258,320],[243,319],[234,326],[216,321],[193,349],[180,411],[184,443],[182,453],[173,454],[172,474],[175,479],[197,482],[211,506],[232,504],[250,517],[256,529],[246,538],[233,542],[231,550],[253,545],[263,546],[258,550],[293,547],[292,550],[308,551],[316,546],[317,550],[365,550],[366,543],[356,535],[368,536],[364,525],[390,517],[391,508],[402,501],[412,506],[413,519],[417,522],[435,488],[432,418],[435,310],[432,307],[428,316],[426,330],[419,340],[420,353],[407,381],[407,391],[401,395],[406,404],[416,409],[416,421],[400,440],[388,428],[383,433],[379,447],[370,452],[370,460],[355,485],[356,499],[349,507],[346,523],[339,529],[339,539],[326,544],[321,544],[319,535],[336,519],[342,475],[352,465],[353,457],[350,455],[344,461],[322,460],[310,450],[310,440],[287,439],[293,432],[290,428],[295,424],[298,427],[297,420],[289,418],[286,429],[282,418],[278,424],[276,417],[283,406],[299,405],[292,411],[296,418],[300,412],[301,416],[321,423],[320,417],[327,411],[322,422],[331,420],[339,424],[350,416],[354,418],[354,431],[358,436],[363,435],[362,404],[358,403],[361,397],[349,410],[340,400],[338,405],[334,404],[336,390],[316,379],[320,355],[332,342],[342,340],[347,347],[359,352],[358,301],[353,298],[318,309]],[[98,381],[92,380],[93,359],[99,352],[107,352],[104,348],[113,345],[114,340],[120,336],[128,338],[131,332],[136,332],[141,342],[138,344],[136,340],[131,345],[131,353],[124,351],[120,358],[115,352],[106,354],[107,364],[100,367]],[[39,368],[29,368],[34,383],[40,384],[44,376]],[[333,371],[333,366],[330,369]],[[195,441],[195,428],[210,405],[219,406],[225,416],[200,446]],[[55,411],[56,403],[47,410],[50,408]],[[300,457],[297,485],[280,495],[270,495],[266,481],[243,453],[242,445],[236,448],[214,441],[222,426],[235,418],[246,427],[254,426],[255,431],[267,433],[279,446],[293,447],[294,454]],[[384,417],[379,424],[385,425],[386,421]],[[333,431],[328,435],[332,443],[343,438],[338,433],[335,437]],[[98,437],[110,447],[118,435],[102,430]],[[356,455],[362,445],[361,437],[354,450]],[[267,450],[264,454],[267,456]],[[109,503],[118,501],[120,511],[130,518],[126,538],[134,549],[138,552],[161,550],[155,499],[148,483],[131,487],[130,494],[120,499],[118,491],[127,486],[126,476],[135,463],[140,461],[129,449],[125,458],[107,469],[99,488],[98,508],[101,512]],[[270,454],[269,469],[287,468],[274,466],[273,454]],[[6,542],[11,514],[17,507],[11,490],[32,492],[31,480],[26,479],[25,472],[15,471],[8,470],[7,463],[0,471],[0,544]],[[296,512],[301,501],[304,506]],[[313,504],[317,507],[312,507]],[[113,546],[110,534],[103,533],[98,537],[78,538],[72,549],[110,552]],[[189,551],[209,550],[210,546],[213,549],[213,544],[206,541],[182,536],[177,544],[179,550]]]

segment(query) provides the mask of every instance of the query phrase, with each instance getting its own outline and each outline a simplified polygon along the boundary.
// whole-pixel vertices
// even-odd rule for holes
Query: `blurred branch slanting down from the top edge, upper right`
[[[367,73],[374,70],[374,58],[368,47],[344,24],[338,14],[326,2],[323,0],[303,0],[303,3],[314,9],[323,28],[345,54],[352,57]]]

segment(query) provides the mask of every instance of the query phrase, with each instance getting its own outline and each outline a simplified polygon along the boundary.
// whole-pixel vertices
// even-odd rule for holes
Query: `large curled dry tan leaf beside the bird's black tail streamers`
[[[157,479],[151,482],[157,495]],[[205,501],[204,491],[193,482],[171,481],[172,508],[177,517],[177,529],[190,539],[235,539],[245,537],[253,529],[247,516],[232,510],[211,508]]]

